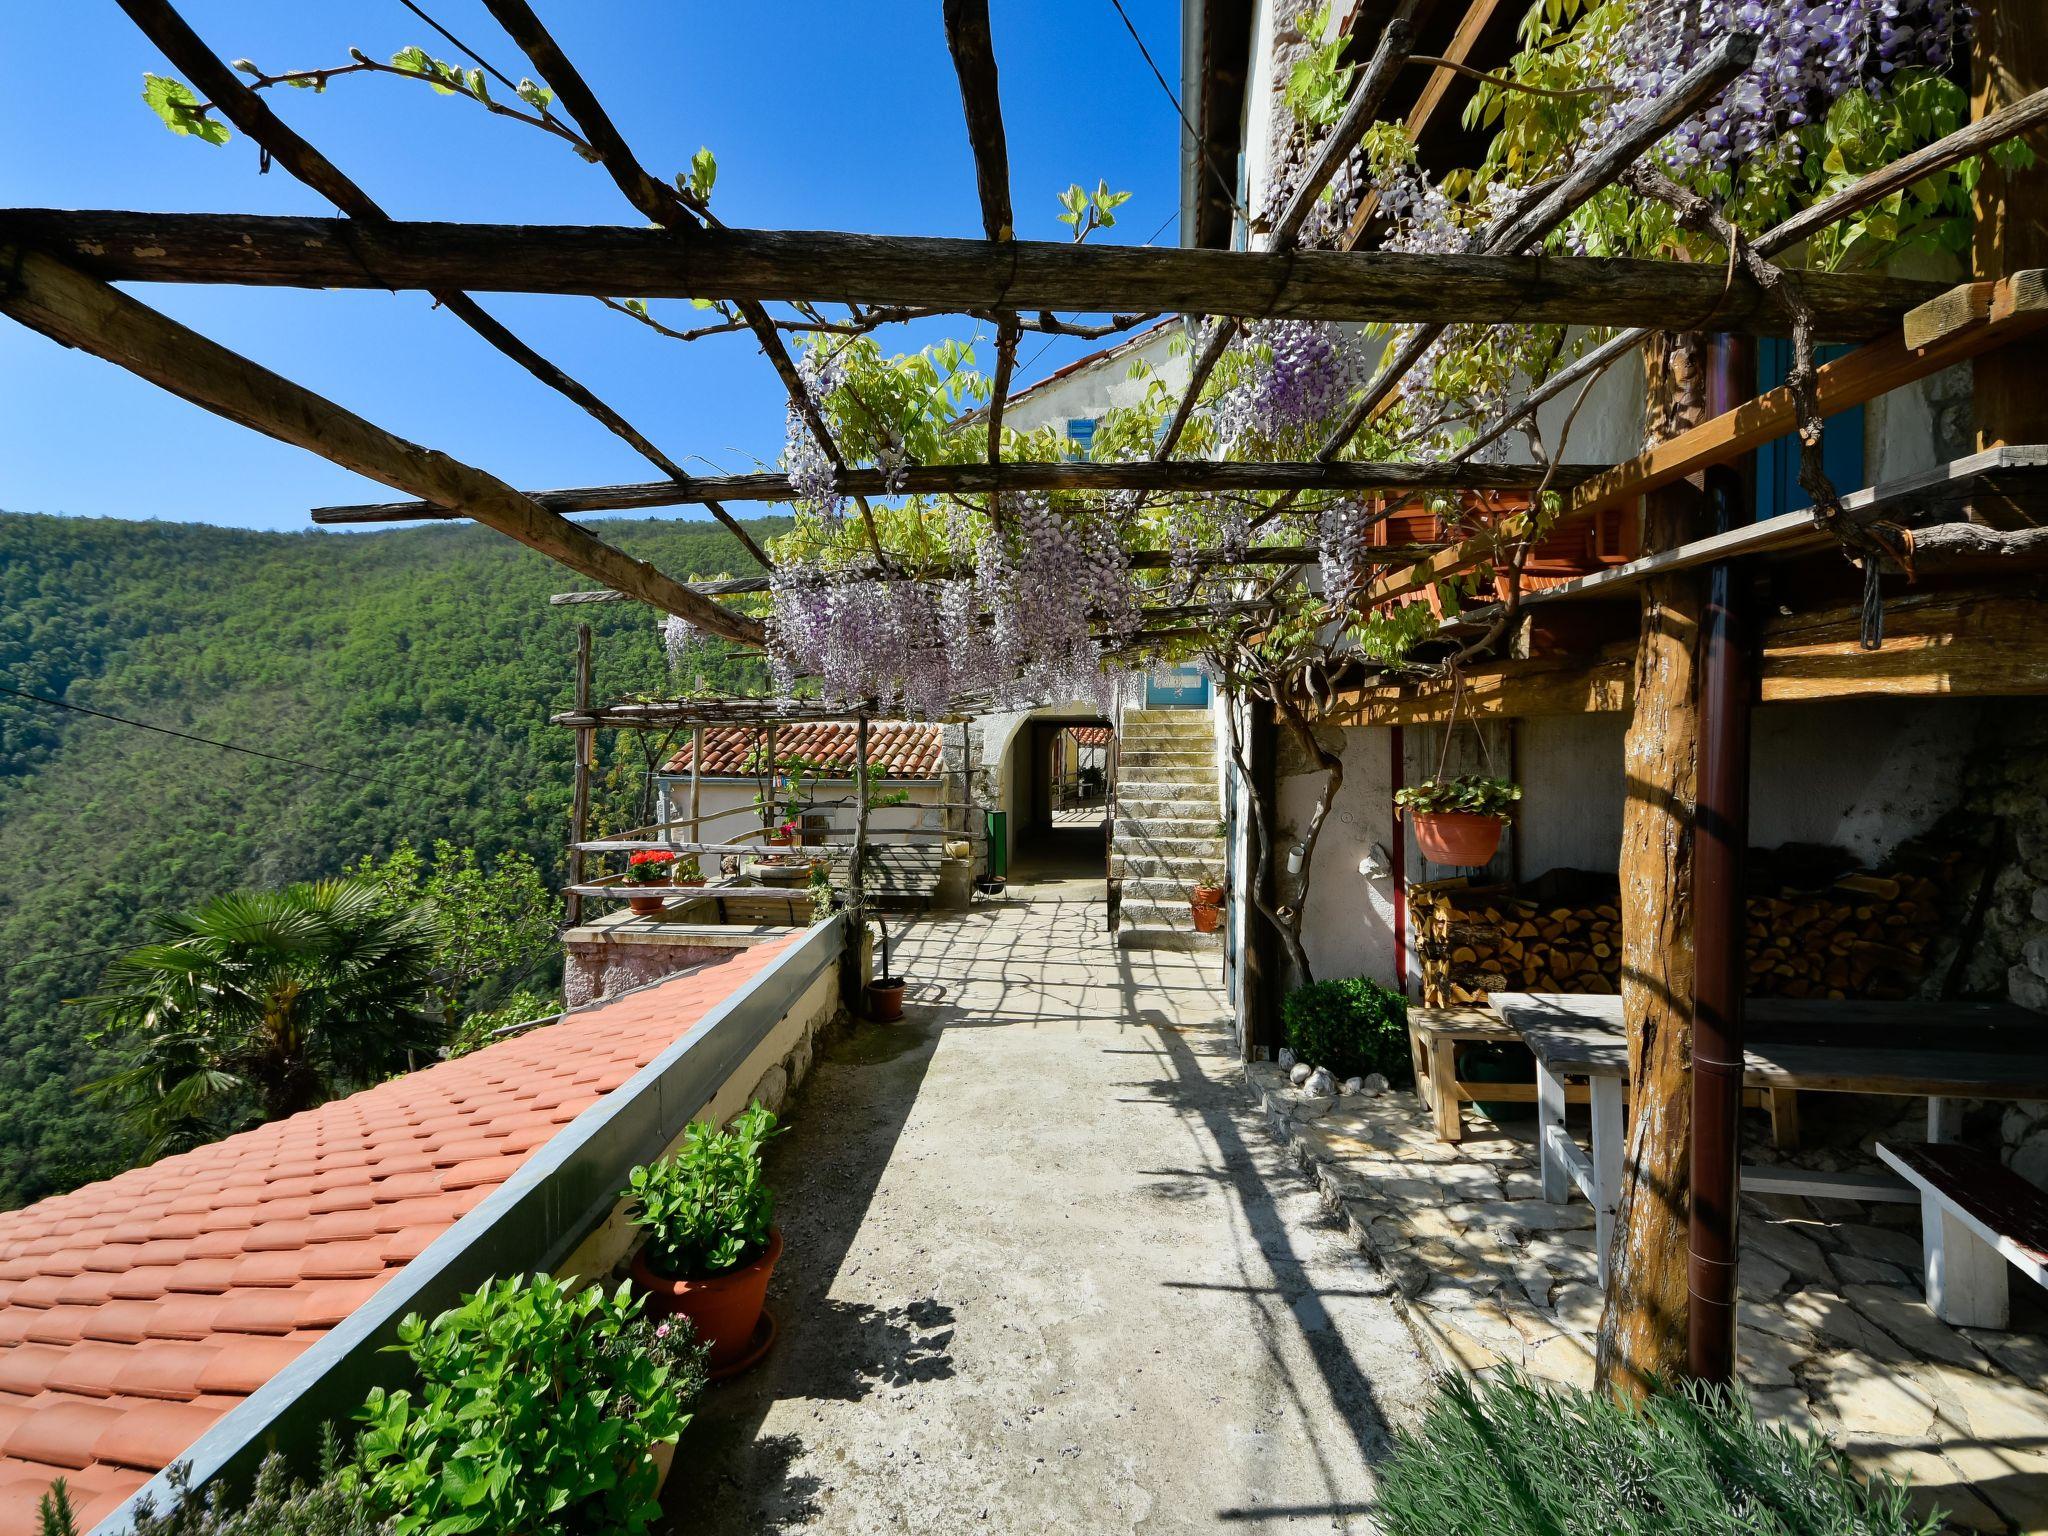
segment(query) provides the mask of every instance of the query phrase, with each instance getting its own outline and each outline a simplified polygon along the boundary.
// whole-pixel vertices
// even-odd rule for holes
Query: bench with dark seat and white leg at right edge
[[[1919,1190],[1927,1305],[1954,1327],[2005,1327],[2005,1266],[2048,1286],[2048,1194],[1989,1153],[1956,1143],[1884,1147]]]

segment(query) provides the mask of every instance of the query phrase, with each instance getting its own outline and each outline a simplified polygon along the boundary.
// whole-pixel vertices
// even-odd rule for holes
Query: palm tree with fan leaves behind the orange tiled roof
[[[82,999],[125,1063],[86,1092],[119,1104],[152,1157],[215,1141],[432,1057],[438,926],[358,881],[223,895],[158,920],[164,940]]]

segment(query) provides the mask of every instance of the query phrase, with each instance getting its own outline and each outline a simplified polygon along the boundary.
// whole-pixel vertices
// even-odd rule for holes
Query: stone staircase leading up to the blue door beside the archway
[[[1110,874],[1122,881],[1122,948],[1212,950],[1194,932],[1188,897],[1223,881],[1217,741],[1202,709],[1126,709],[1116,743],[1116,825]]]

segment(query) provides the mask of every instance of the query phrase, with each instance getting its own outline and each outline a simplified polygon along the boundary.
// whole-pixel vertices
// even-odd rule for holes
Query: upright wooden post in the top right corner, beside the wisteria
[[[1978,0],[1972,27],[1970,117],[2048,88],[2048,10],[2040,0]],[[2048,266],[2048,133],[2025,137],[2032,170],[2001,170],[1989,156],[1976,182],[1974,266],[2005,276]],[[2040,387],[2036,348],[2007,346],[1976,358],[1970,371],[1976,446],[2048,442],[2048,391]]]

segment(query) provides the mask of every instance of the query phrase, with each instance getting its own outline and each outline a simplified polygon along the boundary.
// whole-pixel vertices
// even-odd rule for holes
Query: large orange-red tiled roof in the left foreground
[[[0,1536],[57,1477],[90,1530],[788,942],[0,1212]]]

